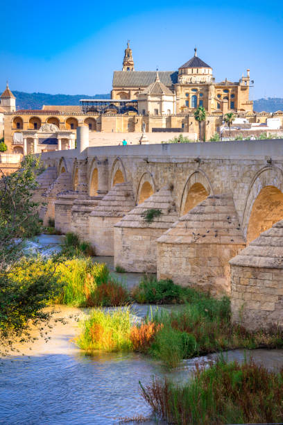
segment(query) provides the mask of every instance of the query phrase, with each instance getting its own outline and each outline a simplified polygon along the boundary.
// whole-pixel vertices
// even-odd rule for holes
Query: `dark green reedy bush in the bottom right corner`
[[[270,372],[249,361],[223,358],[198,366],[185,385],[154,378],[141,395],[170,424],[271,424],[282,422],[283,369]]]

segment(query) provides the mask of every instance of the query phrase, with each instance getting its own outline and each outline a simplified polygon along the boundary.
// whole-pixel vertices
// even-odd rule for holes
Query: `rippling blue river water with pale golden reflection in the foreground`
[[[52,242],[53,238],[43,240]],[[44,249],[50,247],[45,244]],[[112,269],[111,258],[98,260],[105,260]],[[129,286],[135,285],[139,277],[123,275]],[[85,356],[74,338],[80,331],[77,318],[87,310],[67,306],[56,306],[56,310],[54,318],[65,317],[67,324],[54,322],[49,342],[39,339],[20,347],[21,356],[0,359],[0,424],[119,424],[123,418],[140,415],[148,418],[144,423],[155,424],[151,409],[139,394],[139,381],[149,383],[153,375],[185,381],[200,360],[184,360],[180,367],[169,371],[136,353]],[[139,317],[146,310],[146,306],[135,306]],[[239,361],[252,355],[271,369],[283,366],[283,350],[236,350],[227,355]],[[215,357],[201,359],[209,363]]]

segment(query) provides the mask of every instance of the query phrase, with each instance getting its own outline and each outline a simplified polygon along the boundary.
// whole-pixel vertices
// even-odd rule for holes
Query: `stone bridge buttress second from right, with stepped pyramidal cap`
[[[245,246],[232,196],[211,195],[157,240],[157,278],[230,294],[228,261]]]

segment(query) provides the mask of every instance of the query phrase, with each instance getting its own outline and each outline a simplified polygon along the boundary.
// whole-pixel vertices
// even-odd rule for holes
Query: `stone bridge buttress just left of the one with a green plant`
[[[89,214],[89,242],[97,256],[114,256],[114,224],[135,206],[132,183],[117,183]]]

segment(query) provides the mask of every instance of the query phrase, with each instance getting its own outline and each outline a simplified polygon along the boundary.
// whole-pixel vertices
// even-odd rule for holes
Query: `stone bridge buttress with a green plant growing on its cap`
[[[148,224],[143,213],[156,209],[162,214]],[[155,192],[114,226],[114,264],[127,272],[156,272],[156,240],[178,219],[168,188]]]

